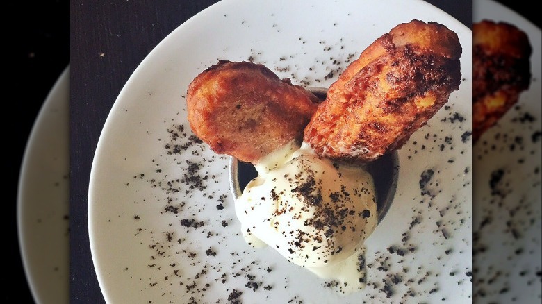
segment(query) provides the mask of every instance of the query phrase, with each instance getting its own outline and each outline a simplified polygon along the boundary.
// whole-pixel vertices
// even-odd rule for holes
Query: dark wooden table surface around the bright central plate
[[[210,0],[71,1],[71,300],[104,303],[87,227],[90,168],[110,108],[140,62]],[[470,0],[430,0],[470,27]]]

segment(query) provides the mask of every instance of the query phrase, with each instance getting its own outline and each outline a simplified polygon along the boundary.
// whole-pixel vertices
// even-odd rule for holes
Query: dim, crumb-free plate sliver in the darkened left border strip
[[[69,303],[69,67],[45,99],[17,190],[22,262],[36,303]]]

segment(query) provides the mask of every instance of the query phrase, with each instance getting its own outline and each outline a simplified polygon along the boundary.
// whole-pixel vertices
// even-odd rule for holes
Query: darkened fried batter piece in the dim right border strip
[[[532,47],[506,22],[473,24],[473,141],[494,126],[529,88]]]

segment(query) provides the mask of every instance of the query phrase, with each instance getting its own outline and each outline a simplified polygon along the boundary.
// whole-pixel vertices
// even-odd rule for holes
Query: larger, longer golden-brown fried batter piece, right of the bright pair
[[[329,87],[304,141],[320,156],[356,162],[400,149],[459,88],[461,51],[442,24],[395,26]]]

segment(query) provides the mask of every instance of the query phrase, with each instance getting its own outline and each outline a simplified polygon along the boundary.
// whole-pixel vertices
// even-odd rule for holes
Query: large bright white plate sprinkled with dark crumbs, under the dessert
[[[252,58],[294,83],[329,86],[351,56],[412,19],[459,35],[463,81],[400,151],[396,201],[367,242],[370,286],[343,295],[272,248],[245,243],[229,158],[191,140],[184,95],[218,59]],[[120,92],[92,164],[90,247],[106,301],[236,303],[238,293],[243,303],[470,299],[471,144],[461,140],[470,134],[470,48],[470,30],[423,1],[225,0],[176,28]],[[434,199],[420,189],[426,170],[434,171],[425,187]]]

